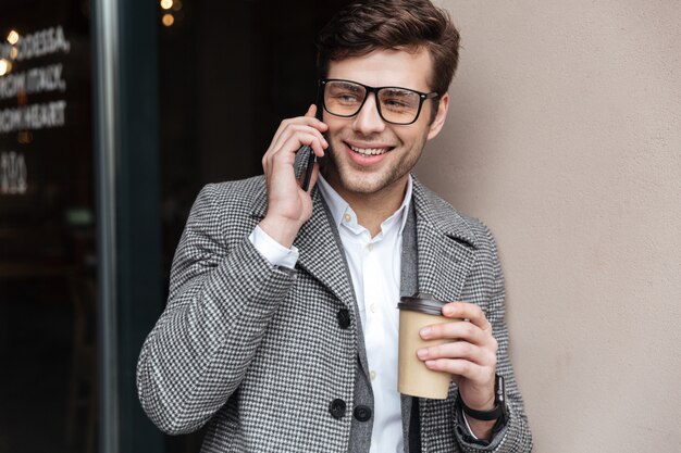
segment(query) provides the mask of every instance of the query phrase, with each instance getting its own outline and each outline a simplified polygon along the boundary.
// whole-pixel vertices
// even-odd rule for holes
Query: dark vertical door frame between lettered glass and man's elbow
[[[99,452],[163,451],[135,365],[162,305],[157,2],[90,0]]]

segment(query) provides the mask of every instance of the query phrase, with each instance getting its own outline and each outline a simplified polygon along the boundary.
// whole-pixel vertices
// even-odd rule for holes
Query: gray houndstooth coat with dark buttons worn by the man
[[[421,451],[529,452],[494,240],[416,179],[412,203],[419,290],[482,306],[510,405],[506,428],[481,446],[462,433],[454,383],[447,400],[419,400]],[[165,432],[208,424],[205,453],[357,451],[351,402],[363,342],[334,227],[314,190],[312,217],[294,243],[296,268],[280,268],[248,240],[265,209],[262,176],[199,194],[173,262],[168,306],[139,356],[139,400]],[[339,327],[344,309],[349,328]],[[330,414],[337,400],[348,402],[339,418]]]

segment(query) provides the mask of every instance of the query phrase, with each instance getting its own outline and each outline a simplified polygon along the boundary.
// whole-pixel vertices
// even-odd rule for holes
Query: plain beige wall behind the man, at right
[[[681,452],[681,2],[442,0],[418,175],[499,242],[537,453]]]

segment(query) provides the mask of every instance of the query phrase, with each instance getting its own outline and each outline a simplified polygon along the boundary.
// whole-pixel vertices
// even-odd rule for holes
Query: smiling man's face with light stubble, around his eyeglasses
[[[376,50],[363,56],[332,61],[327,78],[358,81],[372,87],[401,87],[421,92],[429,85],[432,62],[428,50]],[[358,196],[394,193],[404,197],[408,174],[417,164],[425,141],[435,137],[444,123],[448,95],[441,97],[431,123],[433,100],[423,103],[413,124],[385,123],[370,93],[359,113],[338,117],[324,112],[330,148],[324,176],[346,200]]]

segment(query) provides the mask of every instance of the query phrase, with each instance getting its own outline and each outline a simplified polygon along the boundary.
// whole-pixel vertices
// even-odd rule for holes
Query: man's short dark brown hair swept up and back
[[[317,68],[377,49],[429,50],[431,89],[447,92],[459,61],[459,32],[449,14],[429,0],[359,0],[336,13],[317,40]]]

